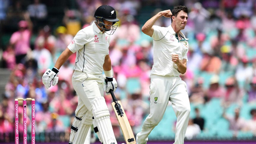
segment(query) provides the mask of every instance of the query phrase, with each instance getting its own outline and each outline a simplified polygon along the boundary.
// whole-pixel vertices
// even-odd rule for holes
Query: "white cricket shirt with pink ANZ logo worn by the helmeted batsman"
[[[105,56],[108,55],[110,37],[93,22],[78,31],[68,49],[76,52],[74,70],[90,74],[102,74]]]

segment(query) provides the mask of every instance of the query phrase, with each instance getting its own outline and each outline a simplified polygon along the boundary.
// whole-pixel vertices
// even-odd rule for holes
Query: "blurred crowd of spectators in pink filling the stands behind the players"
[[[151,18],[161,9],[172,10],[174,5],[181,4],[189,8],[187,26],[182,31],[189,38],[187,72],[181,78],[187,83],[193,108],[186,138],[210,131],[208,121],[216,113],[208,116],[207,112],[200,114],[200,110],[216,100],[219,105],[212,105],[209,111],[218,108],[217,121],[226,122],[231,137],[241,132],[256,136],[255,0],[75,0],[72,3],[74,6],[64,5],[60,10],[63,15],[56,19],[61,22],[53,23],[50,1],[0,0],[0,26],[4,31],[0,33],[0,66],[10,70],[1,98],[0,133],[14,132],[14,99],[34,98],[36,132],[65,132],[63,141],[69,139],[78,103],[71,83],[75,53],[59,69],[57,86],[46,89],[42,75],[53,67],[75,34],[91,25],[97,7],[105,4],[117,10],[120,20],[109,47],[118,83],[115,94],[137,133],[149,113],[153,65],[152,40],[141,33],[141,26],[146,22],[142,18]],[[171,20],[164,17],[156,23],[165,27],[170,24]],[[10,37],[3,42],[8,32]],[[116,137],[121,137],[111,107],[112,98],[106,95],[105,100]],[[30,109],[28,106],[28,114]],[[22,131],[22,107],[19,112]],[[169,131],[175,132],[175,128]]]

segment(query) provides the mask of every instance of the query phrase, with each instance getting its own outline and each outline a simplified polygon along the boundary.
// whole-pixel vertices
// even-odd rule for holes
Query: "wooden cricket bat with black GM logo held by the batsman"
[[[116,96],[114,95],[114,92],[112,89],[110,89],[109,92],[113,99],[113,102],[111,104],[115,111],[116,118],[119,122],[121,130],[123,132],[125,142],[127,144],[136,144],[136,140],[133,135],[132,128],[131,128],[128,118],[124,112],[124,108],[123,108],[121,102],[116,99]]]

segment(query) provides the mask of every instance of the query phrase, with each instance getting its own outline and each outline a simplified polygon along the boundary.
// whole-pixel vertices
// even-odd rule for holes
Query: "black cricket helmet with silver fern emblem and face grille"
[[[113,34],[116,31],[116,28],[118,26],[118,23],[116,23],[116,22],[119,20],[116,18],[116,10],[113,7],[111,7],[109,5],[102,5],[102,6],[98,7],[94,13],[94,17],[96,18],[96,22],[99,23],[98,24],[99,27],[101,27],[105,31],[111,30],[109,35]],[[113,22],[112,26],[104,24],[102,20],[107,20],[107,21]],[[110,29],[106,29],[105,26],[110,26]]]

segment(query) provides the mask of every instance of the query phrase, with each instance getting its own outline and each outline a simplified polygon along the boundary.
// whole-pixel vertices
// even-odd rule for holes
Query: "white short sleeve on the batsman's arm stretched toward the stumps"
[[[87,43],[88,43],[87,34],[84,31],[80,30],[75,35],[74,39],[70,42],[70,44],[67,46],[67,48],[70,51],[72,51],[72,53],[75,53],[76,51],[83,48],[83,46]]]

